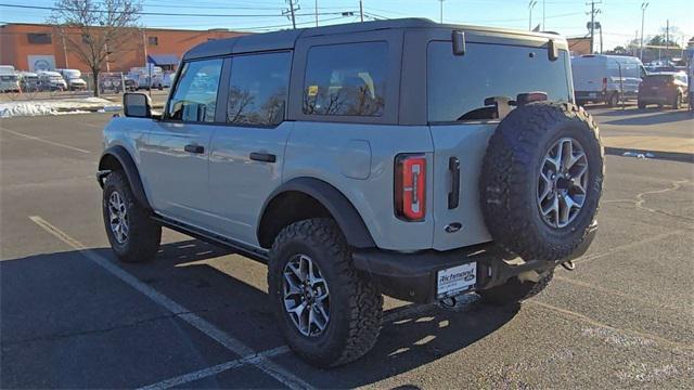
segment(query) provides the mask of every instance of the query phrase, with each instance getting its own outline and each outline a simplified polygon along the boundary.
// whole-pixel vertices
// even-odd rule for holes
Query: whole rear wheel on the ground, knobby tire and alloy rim
[[[333,220],[304,220],[280,232],[270,250],[268,286],[280,333],[316,366],[355,361],[378,338],[383,296],[357,273]]]

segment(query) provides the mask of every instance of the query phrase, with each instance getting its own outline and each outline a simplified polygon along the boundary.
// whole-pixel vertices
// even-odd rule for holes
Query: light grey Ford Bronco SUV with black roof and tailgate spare
[[[113,250],[162,226],[267,261],[280,332],[336,366],[383,295],[536,295],[592,242],[604,176],[555,34],[426,20],[248,35],[183,56],[163,113],[124,96],[98,179]]]

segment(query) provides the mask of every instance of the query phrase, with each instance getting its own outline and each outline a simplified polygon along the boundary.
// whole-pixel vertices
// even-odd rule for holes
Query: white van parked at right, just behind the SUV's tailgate
[[[606,103],[614,107],[621,99],[635,99],[646,69],[637,57],[588,54],[571,58],[576,103]]]

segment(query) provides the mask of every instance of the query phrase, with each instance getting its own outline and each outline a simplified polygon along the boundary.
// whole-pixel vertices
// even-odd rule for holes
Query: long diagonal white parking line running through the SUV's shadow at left
[[[163,295],[159,291],[155,290],[154,288],[150,287],[145,283],[141,282],[137,277],[132,276],[128,272],[126,272],[123,269],[120,269],[119,266],[115,265],[114,263],[108,261],[106,258],[98,255],[97,252],[94,252],[91,249],[88,249],[80,242],[78,242],[77,239],[70,237],[69,235],[67,235],[65,232],[61,231],[60,229],[53,226],[52,224],[50,224],[48,221],[46,221],[41,217],[33,216],[33,217],[29,217],[29,219],[34,223],[36,223],[37,225],[39,225],[43,230],[46,230],[48,233],[50,233],[53,236],[57,237],[60,240],[62,240],[63,243],[67,244],[70,247],[73,247],[75,250],[79,251],[82,256],[85,256],[89,260],[91,260],[94,263],[99,264],[104,270],[106,270],[110,273],[112,273],[114,276],[118,277],[120,281],[123,281],[124,283],[126,283],[130,287],[132,287],[132,288],[137,289],[138,291],[142,292],[143,295],[145,295],[147,298],[150,298],[154,302],[158,303],[159,306],[162,306],[166,310],[168,310],[171,313],[176,314],[179,318],[185,321],[190,325],[192,325],[195,328],[197,328],[200,332],[202,332],[205,335],[207,335],[209,338],[214,339],[215,341],[217,341],[220,344],[222,344],[223,347],[226,347],[228,350],[230,350],[230,351],[243,356],[241,359],[249,359],[252,356],[256,356],[256,359],[249,359],[247,363],[256,366],[260,370],[262,370],[266,374],[270,375],[275,380],[280,381],[282,385],[284,385],[284,386],[286,386],[286,387],[288,387],[291,389],[310,389],[311,388],[311,386],[309,386],[303,379],[298,378],[294,374],[290,373],[288,370],[282,368],[281,366],[279,366],[274,362],[270,361],[268,359],[268,356],[256,353],[252,348],[247,347],[246,344],[244,344],[240,340],[236,340],[235,338],[227,335],[221,329],[219,329],[217,326],[215,326],[215,325],[210,324],[209,322],[205,321],[204,318],[202,318],[197,314],[192,313],[190,310],[185,309],[184,307],[176,303],[175,301],[172,301],[171,299],[169,299],[165,295]]]

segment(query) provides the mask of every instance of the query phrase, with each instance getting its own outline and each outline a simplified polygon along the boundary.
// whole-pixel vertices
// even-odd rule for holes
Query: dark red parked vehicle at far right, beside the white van
[[[683,72],[651,74],[643,78],[639,88],[639,108],[650,104],[670,105],[679,109],[689,101],[689,82]]]

